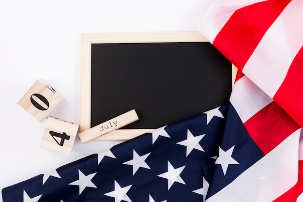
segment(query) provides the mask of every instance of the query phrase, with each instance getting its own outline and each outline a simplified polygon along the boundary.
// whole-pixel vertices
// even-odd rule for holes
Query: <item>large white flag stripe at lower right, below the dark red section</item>
[[[206,202],[272,202],[288,191],[298,181],[300,131],[301,128]]]

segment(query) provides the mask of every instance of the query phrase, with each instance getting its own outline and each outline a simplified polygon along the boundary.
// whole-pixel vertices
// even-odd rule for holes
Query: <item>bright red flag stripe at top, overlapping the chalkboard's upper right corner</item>
[[[290,1],[267,0],[235,11],[215,37],[213,46],[242,70],[265,32]]]

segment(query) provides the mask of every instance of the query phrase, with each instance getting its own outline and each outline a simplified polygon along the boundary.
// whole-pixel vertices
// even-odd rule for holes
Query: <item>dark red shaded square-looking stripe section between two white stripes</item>
[[[265,155],[300,128],[275,102],[258,111],[244,125]]]

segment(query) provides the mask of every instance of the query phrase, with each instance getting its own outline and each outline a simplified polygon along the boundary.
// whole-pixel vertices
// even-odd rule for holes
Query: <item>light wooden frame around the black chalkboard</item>
[[[91,44],[165,42],[208,42],[208,40],[197,31],[81,34],[80,132],[91,128]],[[118,129],[95,140],[129,140],[151,130],[153,129]]]

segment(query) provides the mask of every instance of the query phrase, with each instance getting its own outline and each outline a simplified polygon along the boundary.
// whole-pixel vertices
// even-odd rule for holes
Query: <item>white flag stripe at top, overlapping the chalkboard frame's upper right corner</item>
[[[215,0],[202,17],[198,31],[211,43],[237,9],[266,0]]]

